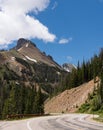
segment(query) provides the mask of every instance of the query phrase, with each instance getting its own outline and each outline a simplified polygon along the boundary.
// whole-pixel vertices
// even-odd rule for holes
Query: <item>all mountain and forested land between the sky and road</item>
[[[102,111],[102,61],[103,49],[77,67],[60,66],[36,44],[20,38],[14,48],[0,51],[0,118],[76,112],[86,102],[88,111]]]

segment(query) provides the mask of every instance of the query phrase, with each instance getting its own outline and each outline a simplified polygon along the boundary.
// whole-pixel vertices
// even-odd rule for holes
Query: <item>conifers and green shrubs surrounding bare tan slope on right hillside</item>
[[[89,61],[78,62],[77,69],[74,69],[64,81],[64,89],[77,87],[92,79],[96,82],[96,77],[100,82],[93,94],[88,95],[87,102],[80,108],[80,112],[100,111],[103,113],[103,48],[100,53],[95,54]]]

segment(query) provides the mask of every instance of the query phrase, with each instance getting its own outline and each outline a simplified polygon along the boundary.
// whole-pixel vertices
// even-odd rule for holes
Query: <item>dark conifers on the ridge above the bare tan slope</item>
[[[61,88],[71,89],[77,87],[85,82],[88,82],[94,79],[96,76],[100,76],[103,66],[103,49],[100,50],[100,53],[95,54],[90,60],[85,61],[80,64],[78,61],[77,69],[73,69],[72,73],[69,73],[66,78],[62,81]]]

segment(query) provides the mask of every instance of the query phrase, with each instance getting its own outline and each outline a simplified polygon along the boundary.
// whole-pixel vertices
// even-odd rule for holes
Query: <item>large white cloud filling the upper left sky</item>
[[[29,15],[45,10],[50,0],[0,0],[0,46],[7,47],[20,37],[53,42],[56,36]],[[36,16],[36,15],[35,15]]]

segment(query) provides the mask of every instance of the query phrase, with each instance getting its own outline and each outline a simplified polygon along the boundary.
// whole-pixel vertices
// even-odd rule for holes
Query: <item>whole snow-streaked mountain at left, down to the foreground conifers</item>
[[[15,80],[15,83],[22,82],[26,86],[42,87],[46,93],[51,93],[60,83],[61,75],[66,74],[51,56],[47,56],[33,42],[23,38],[9,51],[0,51],[0,66],[3,70],[1,79],[8,79],[8,82]],[[13,75],[16,78],[12,78]]]

